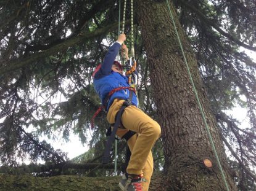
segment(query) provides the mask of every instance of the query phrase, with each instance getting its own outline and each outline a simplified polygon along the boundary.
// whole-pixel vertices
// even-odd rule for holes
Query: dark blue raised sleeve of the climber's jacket
[[[112,71],[112,64],[117,57],[118,51],[121,45],[118,42],[115,42],[110,48],[107,54],[105,55],[104,61],[101,65],[101,69],[95,74],[96,79],[109,75]]]

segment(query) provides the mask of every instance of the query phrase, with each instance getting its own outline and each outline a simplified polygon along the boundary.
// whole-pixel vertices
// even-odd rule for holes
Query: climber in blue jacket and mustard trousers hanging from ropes
[[[119,186],[122,190],[127,191],[146,191],[149,189],[153,173],[151,149],[160,137],[161,130],[155,120],[138,109],[136,94],[130,90],[131,88],[128,89],[128,77],[123,76],[122,65],[115,61],[121,46],[126,60],[129,60],[128,49],[123,44],[125,40],[125,34],[120,34],[117,41],[109,48],[103,63],[94,71],[93,84],[101,98],[102,105],[105,106],[107,120],[110,124],[115,123],[118,111],[123,104],[127,103],[127,100],[130,100],[128,101],[129,106],[125,107],[122,114],[122,125],[119,126],[116,133],[118,137],[123,138],[129,131],[135,132],[127,139],[131,157]],[[123,89],[120,89],[120,87]],[[117,91],[115,92],[115,90]],[[114,93],[108,97],[111,91],[114,91]]]

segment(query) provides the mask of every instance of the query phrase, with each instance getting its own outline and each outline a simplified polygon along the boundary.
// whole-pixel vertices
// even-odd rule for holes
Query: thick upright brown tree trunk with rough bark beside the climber
[[[165,1],[136,1],[136,13],[142,29],[150,69],[151,84],[157,106],[165,152],[165,190],[226,190],[209,136],[192,90],[191,82],[178,45]],[[209,100],[200,79],[197,61],[188,38],[171,7],[178,33],[192,72],[192,78],[213,136],[213,142],[225,171],[229,190],[236,190],[229,173],[220,130],[211,112]],[[207,158],[212,167],[204,165]]]

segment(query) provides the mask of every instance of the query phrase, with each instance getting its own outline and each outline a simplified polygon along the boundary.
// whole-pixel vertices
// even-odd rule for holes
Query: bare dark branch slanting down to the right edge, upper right
[[[202,18],[202,21],[204,21],[207,25],[212,26],[213,28],[215,28],[220,34],[222,34],[223,36],[227,37],[230,41],[235,42],[237,45],[240,45],[241,47],[244,47],[246,49],[249,50],[254,50],[256,51],[256,47],[252,47],[248,44],[244,44],[244,42],[239,41],[239,39],[237,39],[236,37],[232,36],[229,33],[226,33],[225,31],[223,31],[220,27],[218,27],[215,23],[213,23],[212,21],[210,21],[209,19],[207,19],[204,14],[202,14],[202,12],[200,12],[200,10],[196,9],[196,7],[191,6],[190,4],[186,3],[184,0],[181,0],[182,4],[186,7],[188,7],[189,9],[191,9],[193,12],[195,12],[200,18]]]

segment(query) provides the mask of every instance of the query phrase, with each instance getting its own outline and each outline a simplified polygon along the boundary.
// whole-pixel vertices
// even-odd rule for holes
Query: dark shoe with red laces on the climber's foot
[[[142,191],[141,180],[142,180],[142,174],[141,175],[123,174],[123,177],[119,182],[119,187],[122,191]]]

